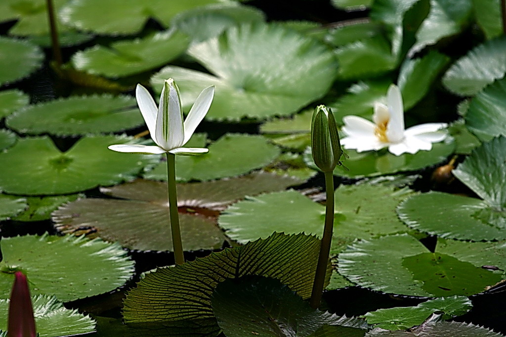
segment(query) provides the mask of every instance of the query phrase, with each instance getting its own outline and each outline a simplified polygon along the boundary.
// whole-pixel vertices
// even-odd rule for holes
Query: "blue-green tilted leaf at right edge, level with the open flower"
[[[498,135],[506,136],[506,79],[500,79],[480,91],[466,113],[466,124],[482,140]]]

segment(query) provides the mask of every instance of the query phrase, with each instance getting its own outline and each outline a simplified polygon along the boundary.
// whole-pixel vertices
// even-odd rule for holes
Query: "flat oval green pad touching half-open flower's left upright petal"
[[[6,123],[21,133],[74,136],[131,129],[144,119],[134,98],[102,94],[30,105],[8,116]]]

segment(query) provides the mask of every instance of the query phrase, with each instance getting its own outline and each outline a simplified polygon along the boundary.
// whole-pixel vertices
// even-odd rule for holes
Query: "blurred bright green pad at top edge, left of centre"
[[[61,10],[62,21],[83,31],[99,34],[127,35],[141,30],[149,18],[167,26],[178,13],[196,7],[220,3],[219,0],[77,0]],[[104,13],[108,13],[104,20]],[[125,20],[128,18],[128,20]]]

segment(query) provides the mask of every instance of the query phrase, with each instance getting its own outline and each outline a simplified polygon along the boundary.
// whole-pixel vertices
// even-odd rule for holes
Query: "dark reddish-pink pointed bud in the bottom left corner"
[[[35,319],[26,276],[17,271],[9,304],[7,337],[36,337]]]

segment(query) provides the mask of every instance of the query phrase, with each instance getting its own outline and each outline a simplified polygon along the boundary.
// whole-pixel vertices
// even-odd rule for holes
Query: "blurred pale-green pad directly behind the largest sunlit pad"
[[[193,42],[201,42],[232,26],[264,21],[264,17],[264,13],[255,7],[224,3],[182,12],[174,17],[171,25],[188,34]]]

